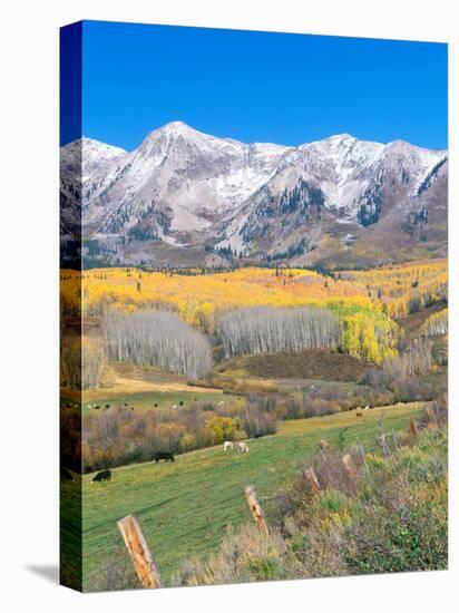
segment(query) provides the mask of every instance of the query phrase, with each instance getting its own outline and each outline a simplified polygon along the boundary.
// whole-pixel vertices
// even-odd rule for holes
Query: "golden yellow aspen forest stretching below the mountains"
[[[320,318],[322,323],[326,317],[332,317],[338,322],[339,339],[334,332],[330,332],[328,324],[330,330],[325,335],[329,340],[319,340],[319,346],[325,342],[326,347],[335,347],[354,358],[373,363],[397,354],[397,342],[400,338],[397,319],[445,300],[446,288],[445,261],[370,271],[343,271],[328,275],[301,269],[256,267],[226,272],[145,272],[136,269],[97,269],[84,273],[61,271],[62,304],[72,314],[79,312],[86,317],[107,318],[110,311],[126,314],[137,311],[166,311],[169,313],[165,315],[168,319],[173,317],[172,313],[176,313],[179,320],[191,327],[187,338],[193,335],[193,329],[196,333],[212,338],[222,332],[221,322],[231,321],[236,312],[253,314],[256,309],[260,313],[266,313],[266,309],[279,309],[277,314],[281,318],[282,313],[290,310],[293,313],[296,309],[309,308],[310,313],[329,313]],[[128,320],[125,321],[129,330],[131,321],[134,320],[129,320],[129,323]],[[261,322],[256,323],[258,324]],[[318,344],[314,342],[311,347]],[[310,341],[302,347],[309,344]],[[283,349],[289,350],[281,347]],[[119,347],[114,350],[111,346],[109,356],[113,357],[111,353],[118,350]],[[274,346],[266,347],[268,352],[276,350],[279,348]],[[256,351],[260,350],[253,352]],[[248,348],[243,352],[248,353],[251,350]],[[203,360],[205,362],[207,358],[203,357]],[[169,366],[166,362],[164,368],[167,369]],[[145,363],[145,360],[137,363]],[[206,368],[196,367],[196,374],[204,372]],[[172,370],[189,372],[189,369],[184,370],[183,367]]]

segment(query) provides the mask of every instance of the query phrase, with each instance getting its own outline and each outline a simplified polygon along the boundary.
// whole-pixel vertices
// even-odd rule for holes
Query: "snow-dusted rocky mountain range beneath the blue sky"
[[[90,138],[61,148],[62,236],[82,227],[87,257],[126,264],[384,259],[407,242],[436,255],[447,177],[447,152],[401,140],[247,145],[174,121],[129,153]]]

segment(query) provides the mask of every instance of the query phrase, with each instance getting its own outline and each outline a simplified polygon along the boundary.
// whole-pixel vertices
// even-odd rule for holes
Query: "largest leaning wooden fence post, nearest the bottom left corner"
[[[163,587],[159,572],[149,553],[137,518],[134,515],[128,515],[119,519],[117,524],[143,587],[148,590]]]

